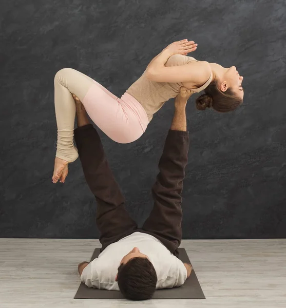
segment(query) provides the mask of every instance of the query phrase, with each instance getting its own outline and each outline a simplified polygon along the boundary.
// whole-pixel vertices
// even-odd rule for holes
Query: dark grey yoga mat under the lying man
[[[100,254],[100,249],[96,248],[91,257],[97,258]],[[187,253],[184,248],[179,248],[179,259],[184,263],[190,263]],[[120,291],[99,290],[96,288],[89,288],[83,282],[79,286],[77,294],[74,299],[123,299]],[[180,287],[159,289],[155,291],[152,299],[205,299],[202,288],[198,281],[197,275],[193,269],[192,274]]]

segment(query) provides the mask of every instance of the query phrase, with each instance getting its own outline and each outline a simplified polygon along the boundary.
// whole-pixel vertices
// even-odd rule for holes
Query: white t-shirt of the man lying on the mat
[[[83,270],[81,280],[88,287],[119,291],[115,281],[118,267],[124,256],[134,247],[146,255],[157,274],[156,288],[171,288],[182,285],[187,278],[184,263],[169,252],[161,241],[149,234],[135,232],[107,246],[98,258]]]

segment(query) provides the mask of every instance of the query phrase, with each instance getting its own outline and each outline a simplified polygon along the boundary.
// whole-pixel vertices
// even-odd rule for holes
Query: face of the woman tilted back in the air
[[[226,91],[231,88],[237,97],[243,99],[244,91],[242,88],[243,77],[240,76],[239,72],[236,70],[235,66],[230,68],[224,68],[224,74],[221,84],[221,91]]]

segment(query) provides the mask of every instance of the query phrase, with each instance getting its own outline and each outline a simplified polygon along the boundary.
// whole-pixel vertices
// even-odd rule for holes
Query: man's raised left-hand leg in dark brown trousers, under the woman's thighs
[[[78,128],[74,130],[75,143],[86,182],[97,200],[96,221],[100,231],[102,251],[137,229],[125,207],[125,199],[112,175],[96,129],[89,124],[87,113],[76,100]]]

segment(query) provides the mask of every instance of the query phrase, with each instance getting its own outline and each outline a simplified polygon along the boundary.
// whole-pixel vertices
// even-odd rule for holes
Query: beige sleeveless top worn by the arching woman
[[[175,54],[169,57],[165,66],[185,65],[192,61],[198,61],[193,57],[181,54]],[[194,92],[204,90],[212,82],[212,74],[207,82],[197,89],[192,89]],[[169,99],[175,98],[183,87],[182,83],[165,83],[154,82],[146,78],[145,72],[141,77],[132,84],[126,92],[134,97],[145,109],[149,122],[153,118],[153,114],[162,108],[164,103]]]

